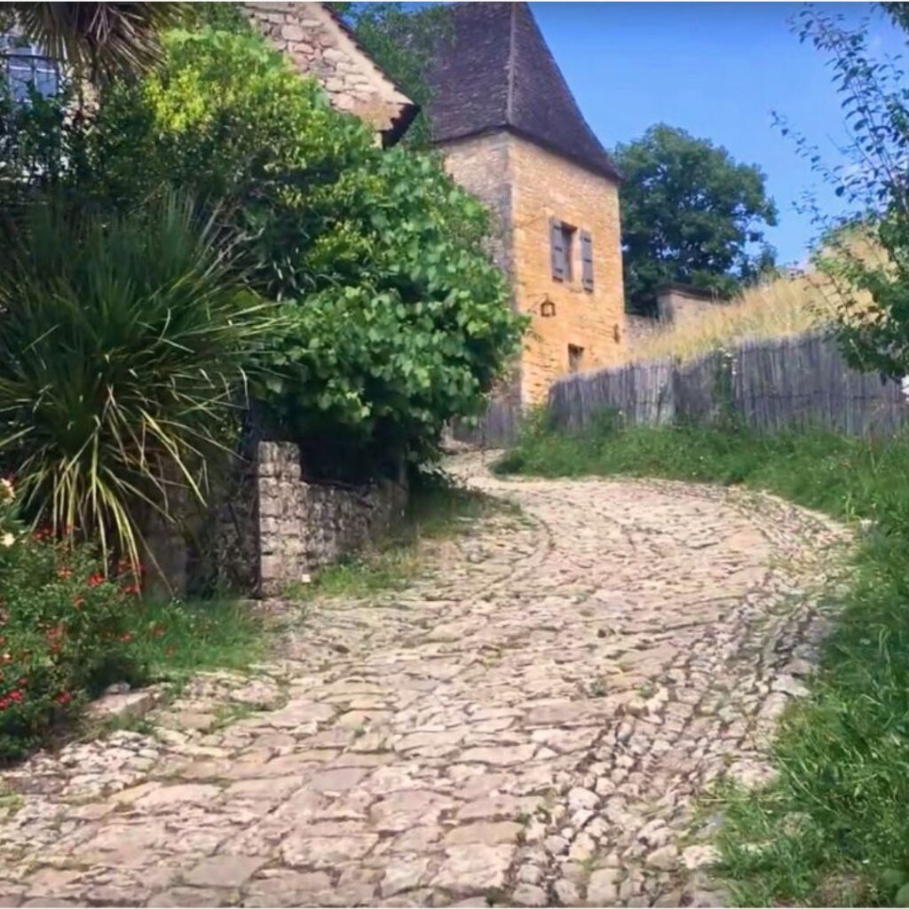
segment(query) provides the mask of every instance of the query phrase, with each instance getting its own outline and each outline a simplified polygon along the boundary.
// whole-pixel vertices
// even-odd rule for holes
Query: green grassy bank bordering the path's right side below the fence
[[[784,717],[776,782],[725,796],[719,874],[744,905],[909,905],[909,438],[537,425],[497,469],[744,484],[874,521],[811,695]]]

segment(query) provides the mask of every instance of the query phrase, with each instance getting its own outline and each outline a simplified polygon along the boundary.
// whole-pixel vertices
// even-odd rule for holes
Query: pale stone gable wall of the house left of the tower
[[[305,74],[319,80],[332,104],[379,133],[410,105],[354,38],[321,3],[245,3],[255,26]]]

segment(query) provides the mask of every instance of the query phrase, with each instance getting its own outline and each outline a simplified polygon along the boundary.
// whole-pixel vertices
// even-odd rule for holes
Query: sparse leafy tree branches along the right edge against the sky
[[[904,25],[901,5],[885,6]],[[849,207],[847,215],[822,221],[827,242],[818,261],[843,298],[841,346],[852,365],[899,378],[909,374],[907,74],[899,57],[875,58],[866,25],[849,30],[838,17],[809,7],[797,27],[802,40],[828,58],[850,135],[843,149],[848,165],[833,168],[804,136],[795,137],[814,170]],[[784,126],[784,134],[789,132]],[[864,237],[864,247],[856,247],[856,236]],[[879,255],[869,255],[869,246]]]

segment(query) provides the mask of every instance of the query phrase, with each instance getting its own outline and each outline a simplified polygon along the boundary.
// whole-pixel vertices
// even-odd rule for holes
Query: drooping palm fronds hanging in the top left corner
[[[90,81],[135,75],[161,55],[158,35],[184,15],[182,3],[11,3],[15,25],[46,55]]]

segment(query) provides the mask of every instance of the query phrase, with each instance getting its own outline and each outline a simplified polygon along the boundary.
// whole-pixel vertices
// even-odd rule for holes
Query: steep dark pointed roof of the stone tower
[[[428,105],[436,142],[511,129],[619,179],[525,3],[456,3],[439,39]]]

